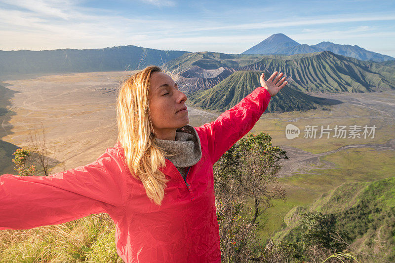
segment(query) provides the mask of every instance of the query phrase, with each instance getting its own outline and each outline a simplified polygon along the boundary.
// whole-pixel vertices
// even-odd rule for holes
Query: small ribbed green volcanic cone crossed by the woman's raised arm
[[[195,92],[188,96],[190,105],[208,110],[225,111],[260,87],[257,71],[236,71],[211,89]],[[269,73],[265,72],[265,78]],[[318,105],[328,105],[329,101],[309,96],[284,87],[274,96],[265,112],[284,112],[316,109]]]

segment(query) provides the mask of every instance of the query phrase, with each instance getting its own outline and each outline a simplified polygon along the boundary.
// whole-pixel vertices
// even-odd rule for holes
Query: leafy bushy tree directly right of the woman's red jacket
[[[277,185],[279,161],[286,152],[272,146],[271,136],[248,134],[214,164],[217,219],[220,226],[223,262],[246,262],[256,254],[258,219],[273,206],[285,201],[285,191]],[[252,207],[247,202],[252,201]],[[259,245],[258,245],[259,246]]]

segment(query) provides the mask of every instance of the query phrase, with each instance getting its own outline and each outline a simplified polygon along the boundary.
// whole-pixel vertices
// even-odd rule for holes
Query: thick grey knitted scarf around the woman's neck
[[[185,167],[197,164],[201,158],[199,136],[191,125],[177,129],[174,141],[156,138],[155,142],[164,150],[166,155],[174,154],[173,156],[166,156],[166,158],[176,166],[184,180],[186,177]]]

